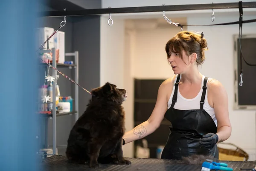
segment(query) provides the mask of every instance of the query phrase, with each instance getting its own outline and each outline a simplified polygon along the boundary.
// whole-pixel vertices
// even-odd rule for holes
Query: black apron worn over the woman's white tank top
[[[200,109],[180,110],[174,109],[175,102],[177,101],[180,74],[177,76],[172,105],[164,115],[172,123],[172,126],[170,126],[170,134],[161,155],[162,159],[180,160],[181,157],[203,154],[212,155],[212,157],[218,160],[218,147],[216,144],[212,149],[206,149],[199,144],[203,135],[209,132],[216,134],[217,132],[217,126],[213,119],[204,110],[207,79],[207,77],[204,78],[201,101],[198,101]]]

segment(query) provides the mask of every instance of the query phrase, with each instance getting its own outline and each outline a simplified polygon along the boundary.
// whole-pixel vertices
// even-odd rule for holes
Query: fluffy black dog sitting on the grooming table
[[[87,109],[70,131],[67,159],[89,162],[90,168],[98,168],[99,163],[131,164],[122,152],[125,112],[121,105],[127,98],[126,90],[107,82],[91,93]]]

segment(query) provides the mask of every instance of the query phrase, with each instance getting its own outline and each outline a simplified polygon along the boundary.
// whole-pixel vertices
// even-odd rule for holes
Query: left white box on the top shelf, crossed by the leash
[[[54,32],[54,28],[50,27],[41,27],[37,28],[37,37],[38,37],[38,48],[41,47],[41,45],[49,38],[49,36],[52,35]],[[53,39],[49,39],[49,41],[43,46],[43,49],[52,49],[54,48],[54,42]]]

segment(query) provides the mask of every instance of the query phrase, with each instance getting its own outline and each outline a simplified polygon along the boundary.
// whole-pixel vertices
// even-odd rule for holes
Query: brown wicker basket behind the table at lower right
[[[247,161],[249,158],[249,155],[236,146],[235,144],[232,143],[218,143],[218,144],[224,144],[224,145],[229,145],[233,146],[236,149],[224,149],[218,146],[219,150],[219,160],[222,161]]]

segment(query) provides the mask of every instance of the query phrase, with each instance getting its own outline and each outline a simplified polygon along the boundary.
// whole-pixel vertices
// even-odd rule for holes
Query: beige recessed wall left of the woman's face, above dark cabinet
[[[167,79],[174,75],[166,58],[165,45],[178,31],[177,27],[136,30],[135,78]]]

